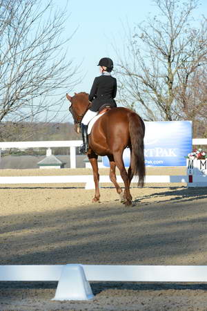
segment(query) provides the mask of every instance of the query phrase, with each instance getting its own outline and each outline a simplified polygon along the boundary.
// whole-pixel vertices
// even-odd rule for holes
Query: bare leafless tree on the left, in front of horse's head
[[[0,122],[50,120],[78,79],[67,59],[67,19],[48,0],[0,0]]]

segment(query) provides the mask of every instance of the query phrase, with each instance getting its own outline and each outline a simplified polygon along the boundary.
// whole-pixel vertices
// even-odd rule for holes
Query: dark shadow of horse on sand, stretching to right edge
[[[153,187],[160,189],[160,187]],[[135,198],[133,203],[144,202],[145,205],[164,203],[164,202],[188,202],[192,200],[201,200],[207,198],[207,187],[186,188],[186,187],[170,187],[170,191],[154,192],[153,194],[139,196]],[[164,199],[166,197],[166,200]],[[153,200],[152,200],[153,199]]]

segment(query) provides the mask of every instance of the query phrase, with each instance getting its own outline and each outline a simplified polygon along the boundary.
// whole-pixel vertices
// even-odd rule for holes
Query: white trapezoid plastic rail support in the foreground
[[[89,300],[94,295],[82,265],[64,265],[52,300]]]

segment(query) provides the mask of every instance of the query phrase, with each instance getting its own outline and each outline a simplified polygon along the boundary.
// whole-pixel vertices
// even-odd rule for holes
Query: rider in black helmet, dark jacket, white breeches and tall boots
[[[83,145],[80,148],[81,153],[88,152],[88,123],[92,120],[95,115],[97,115],[100,107],[103,104],[110,104],[112,107],[116,107],[117,104],[114,98],[117,95],[117,79],[111,76],[111,71],[113,69],[112,59],[108,57],[103,57],[100,59],[99,64],[100,73],[99,77],[95,77],[92,84],[92,88],[89,94],[89,101],[92,102],[90,109],[84,115],[81,122],[81,130],[83,137]]]

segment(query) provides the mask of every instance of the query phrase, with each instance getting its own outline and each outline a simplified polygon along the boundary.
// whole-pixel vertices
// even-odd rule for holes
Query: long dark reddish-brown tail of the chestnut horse
[[[129,132],[132,145],[130,167],[132,176],[139,176],[138,185],[144,186],[145,161],[144,161],[144,132],[145,126],[137,113],[129,114]]]

